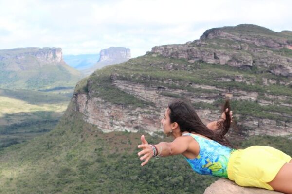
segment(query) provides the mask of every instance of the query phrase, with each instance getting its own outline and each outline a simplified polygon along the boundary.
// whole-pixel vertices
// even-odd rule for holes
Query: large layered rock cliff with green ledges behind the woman
[[[259,29],[251,34],[266,33]],[[164,110],[174,99],[189,99],[207,124],[219,118],[219,104],[229,97],[240,127],[232,129],[230,136],[244,139],[259,134],[291,134],[292,57],[287,50],[275,54],[281,44],[287,49],[289,41],[257,41],[256,35],[241,35],[239,41],[237,33],[238,29],[233,34],[206,31],[200,40],[157,46],[145,56],[95,71],[77,85],[72,98],[75,111],[104,132],[154,133],[161,131]]]

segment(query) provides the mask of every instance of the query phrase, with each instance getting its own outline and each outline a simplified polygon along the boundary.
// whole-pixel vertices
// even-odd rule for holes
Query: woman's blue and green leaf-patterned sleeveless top
[[[195,172],[201,175],[228,178],[227,164],[230,154],[236,149],[231,149],[214,140],[209,140],[192,133],[185,133],[183,135],[192,136],[200,146],[200,152],[196,158],[188,159],[185,157]]]

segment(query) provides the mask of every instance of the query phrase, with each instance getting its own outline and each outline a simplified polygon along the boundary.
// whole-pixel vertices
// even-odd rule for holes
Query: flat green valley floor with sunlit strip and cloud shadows
[[[69,101],[66,94],[0,89],[0,148],[54,129]]]

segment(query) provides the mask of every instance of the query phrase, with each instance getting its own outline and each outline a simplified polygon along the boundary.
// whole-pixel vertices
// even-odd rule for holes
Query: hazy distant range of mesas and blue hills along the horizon
[[[102,49],[100,54],[64,57],[61,48],[2,49],[0,88],[37,90],[73,88],[77,81],[96,69],[125,62],[130,56],[130,49],[124,47]]]

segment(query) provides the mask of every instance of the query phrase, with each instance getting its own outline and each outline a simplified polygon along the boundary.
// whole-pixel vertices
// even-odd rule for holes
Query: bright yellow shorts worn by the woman
[[[244,187],[274,190],[271,182],[291,157],[270,146],[251,146],[232,152],[227,174],[230,180]]]

